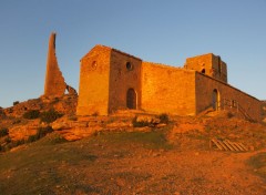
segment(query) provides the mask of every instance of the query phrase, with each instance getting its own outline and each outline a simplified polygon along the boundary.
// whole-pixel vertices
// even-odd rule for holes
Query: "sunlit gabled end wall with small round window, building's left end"
[[[81,59],[78,115],[109,114],[111,49],[94,47]]]

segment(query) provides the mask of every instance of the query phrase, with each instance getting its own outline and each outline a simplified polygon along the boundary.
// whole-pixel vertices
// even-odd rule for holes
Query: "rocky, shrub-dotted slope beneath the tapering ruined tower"
[[[38,132],[49,131],[51,122],[59,117],[73,117],[76,103],[76,95],[65,94],[55,99],[41,96],[1,109],[0,151],[34,140]]]

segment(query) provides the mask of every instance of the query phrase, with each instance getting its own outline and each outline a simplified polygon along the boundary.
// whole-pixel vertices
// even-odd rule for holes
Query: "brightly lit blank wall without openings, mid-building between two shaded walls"
[[[195,115],[195,71],[143,62],[142,109]]]

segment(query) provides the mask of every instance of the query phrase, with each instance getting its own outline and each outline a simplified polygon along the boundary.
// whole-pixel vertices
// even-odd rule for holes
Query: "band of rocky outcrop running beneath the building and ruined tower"
[[[166,125],[162,120],[168,120],[168,115],[165,114],[152,115],[141,111],[121,111],[110,116],[78,117],[75,115],[76,103],[76,95],[64,95],[60,99],[33,99],[0,110],[0,151],[33,142],[52,131],[57,131],[68,141],[76,141],[100,132],[151,131]],[[266,117],[265,101],[262,111],[263,116]],[[135,117],[136,115],[137,117]],[[170,141],[175,140],[176,132],[194,132],[196,130],[200,134],[205,132],[209,138],[244,140],[249,148],[260,148],[263,144],[266,144],[253,135],[254,130],[258,131],[259,134],[264,127],[260,124],[241,120],[236,113],[221,112],[217,115],[216,112],[208,112],[197,117],[170,117],[172,124],[172,131],[167,135]],[[135,120],[134,123],[133,120]],[[134,126],[134,124],[139,124],[139,126]],[[225,129],[225,126],[228,130],[237,131],[237,134],[235,132],[227,135],[223,131],[217,131]]]

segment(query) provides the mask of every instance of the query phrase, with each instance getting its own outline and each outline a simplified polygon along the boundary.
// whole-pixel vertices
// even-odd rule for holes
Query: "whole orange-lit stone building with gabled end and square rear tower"
[[[117,110],[197,115],[213,107],[260,120],[260,101],[227,83],[227,66],[213,53],[188,58],[184,68],[145,62],[95,45],[81,59],[78,115]]]

